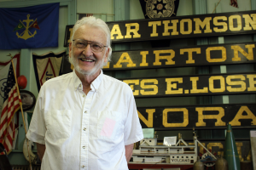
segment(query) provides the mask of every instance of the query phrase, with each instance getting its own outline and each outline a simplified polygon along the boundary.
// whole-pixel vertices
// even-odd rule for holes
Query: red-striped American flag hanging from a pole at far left
[[[15,138],[15,112],[20,109],[21,99],[15,86],[15,74],[13,65],[9,66],[9,73],[4,87],[3,110],[0,119],[0,143],[3,144],[7,153],[12,150]]]

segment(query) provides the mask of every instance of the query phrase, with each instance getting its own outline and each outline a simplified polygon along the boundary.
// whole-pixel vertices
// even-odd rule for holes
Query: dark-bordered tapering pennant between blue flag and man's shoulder
[[[66,51],[63,51],[60,54],[54,54],[52,52],[44,55],[32,54],[38,91],[44,82],[50,78],[59,76],[61,70],[61,61],[65,55]]]

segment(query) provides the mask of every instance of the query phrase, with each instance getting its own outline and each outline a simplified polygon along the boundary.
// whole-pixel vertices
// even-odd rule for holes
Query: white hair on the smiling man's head
[[[80,26],[93,26],[93,27],[99,28],[100,30],[102,30],[104,32],[104,34],[106,35],[106,38],[107,38],[106,46],[108,46],[107,48],[109,48],[108,61],[110,61],[111,54],[112,54],[111,38],[110,38],[110,31],[109,31],[109,28],[108,28],[108,25],[106,24],[106,22],[104,22],[101,19],[96,19],[94,16],[84,17],[81,20],[78,20],[76,22],[76,24],[73,26],[73,35],[79,29]],[[73,43],[73,35],[71,37],[72,43]],[[107,51],[107,48],[106,48],[106,51]],[[107,65],[107,63],[105,63],[105,65]]]

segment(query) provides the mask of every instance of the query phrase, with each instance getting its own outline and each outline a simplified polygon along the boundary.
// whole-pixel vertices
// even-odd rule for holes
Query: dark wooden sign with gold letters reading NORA
[[[137,113],[143,128],[155,130],[256,127],[255,104],[138,107]]]

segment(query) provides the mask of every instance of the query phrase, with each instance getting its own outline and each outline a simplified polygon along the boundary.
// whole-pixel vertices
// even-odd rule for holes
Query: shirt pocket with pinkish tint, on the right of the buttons
[[[98,111],[97,137],[108,141],[119,139],[123,135],[122,113],[117,111]]]

